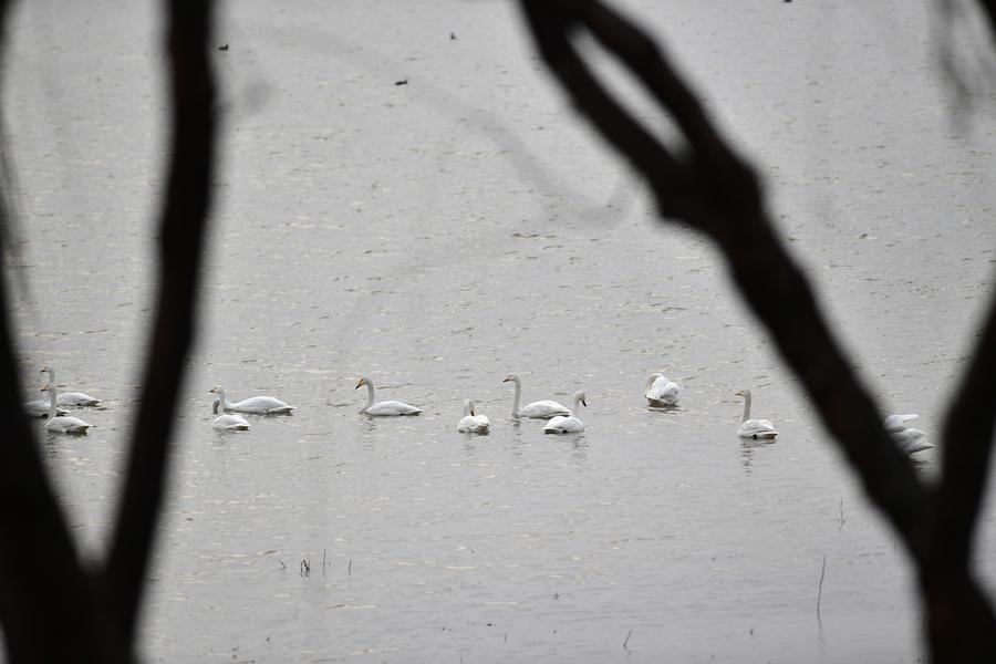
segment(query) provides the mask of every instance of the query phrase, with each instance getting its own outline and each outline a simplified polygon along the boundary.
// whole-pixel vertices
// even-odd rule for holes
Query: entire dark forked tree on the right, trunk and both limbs
[[[982,461],[989,454],[993,404],[971,430],[948,419],[946,434],[965,438],[961,452],[945,455],[952,458],[937,500],[883,429],[881,414],[830,333],[806,277],[778,240],[754,170],[718,133],[656,43],[598,0],[522,0],[521,7],[551,73],[578,111],[646,178],[662,217],[705,232],[723,251],[740,294],[916,563],[934,661],[965,661],[969,654],[996,661],[996,621],[966,554],[987,468]],[[592,74],[571,39],[581,30],[618,58],[674,121],[681,148],[656,138]],[[987,333],[963,385],[966,404],[992,402],[993,349]],[[946,437],[945,448],[950,443]],[[973,464],[981,465],[966,477],[954,475]],[[964,551],[948,556],[942,536],[953,537],[952,528]]]

